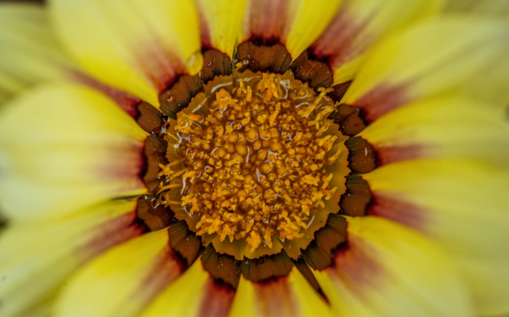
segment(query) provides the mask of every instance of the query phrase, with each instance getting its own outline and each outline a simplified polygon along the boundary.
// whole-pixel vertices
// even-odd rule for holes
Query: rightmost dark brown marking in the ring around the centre
[[[353,173],[367,173],[377,167],[377,155],[373,146],[360,136],[345,141],[348,148],[348,167]]]

